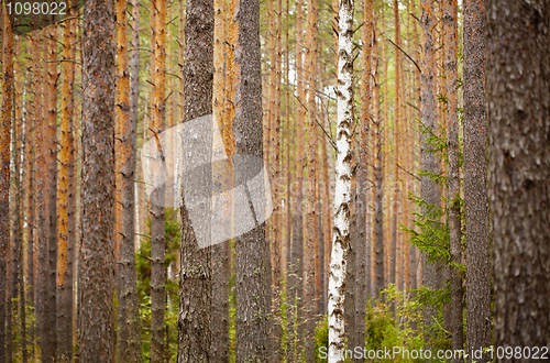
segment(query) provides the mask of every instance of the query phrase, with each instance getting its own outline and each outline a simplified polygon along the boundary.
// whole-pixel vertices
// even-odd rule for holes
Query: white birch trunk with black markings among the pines
[[[344,277],[350,243],[353,129],[352,25],[354,0],[340,0],[334,237],[329,279],[329,363],[344,362]]]

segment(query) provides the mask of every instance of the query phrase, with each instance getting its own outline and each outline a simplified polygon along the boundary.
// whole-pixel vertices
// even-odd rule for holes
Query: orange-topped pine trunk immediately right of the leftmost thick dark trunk
[[[118,46],[118,94],[116,122],[120,138],[117,155],[117,198],[116,218],[120,220],[114,238],[119,250],[118,264],[118,337],[117,361],[142,362],[140,311],[138,299],[138,277],[135,273],[134,234],[135,234],[135,147],[138,129],[139,95],[139,2],[132,2],[134,29],[132,58],[129,69],[127,35],[127,1],[116,2],[117,46]],[[130,72],[130,73],[129,73]],[[129,79],[129,76],[132,78]]]

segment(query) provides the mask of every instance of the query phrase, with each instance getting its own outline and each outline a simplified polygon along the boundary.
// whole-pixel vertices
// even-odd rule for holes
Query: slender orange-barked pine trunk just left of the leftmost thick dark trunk
[[[59,245],[57,249],[57,356],[62,362],[70,362],[73,358],[73,274],[70,270],[73,262],[69,261],[69,200],[74,195],[69,191],[69,168],[72,167],[73,154],[73,107],[70,101],[74,79],[72,68],[74,63],[70,57],[70,48],[75,45],[72,41],[72,21],[62,24],[63,29],[63,59],[62,63],[62,123],[61,123],[61,152],[59,152],[59,183],[57,185],[59,210]],[[74,235],[72,235],[74,237]],[[69,276],[70,275],[70,276]]]

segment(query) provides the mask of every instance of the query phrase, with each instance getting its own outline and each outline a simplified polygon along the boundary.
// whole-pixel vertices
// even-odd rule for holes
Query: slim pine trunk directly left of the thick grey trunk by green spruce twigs
[[[457,0],[446,0],[444,28],[449,46],[446,47],[446,75],[447,75],[447,143],[449,153],[448,173],[448,198],[449,206],[449,228],[450,228],[450,253],[451,262],[462,263],[462,226],[460,217],[460,161],[459,161],[459,120],[457,99],[457,56],[458,56],[458,2]],[[451,273],[451,336],[452,349],[461,350],[464,346],[462,327],[462,275],[457,266],[450,266]],[[451,360],[459,363],[461,359],[455,356]]]

